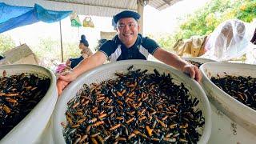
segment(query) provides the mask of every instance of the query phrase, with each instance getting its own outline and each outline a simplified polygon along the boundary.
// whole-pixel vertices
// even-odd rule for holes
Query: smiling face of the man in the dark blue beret
[[[138,22],[134,18],[121,18],[117,23],[118,37],[128,48],[136,42],[138,30]]]

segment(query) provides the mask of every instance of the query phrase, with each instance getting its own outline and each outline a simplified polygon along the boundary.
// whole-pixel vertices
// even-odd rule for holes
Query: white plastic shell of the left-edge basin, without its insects
[[[36,143],[45,129],[57,102],[56,78],[50,70],[36,65],[20,64],[0,66],[0,74],[2,74],[3,70],[6,70],[6,74],[8,75],[25,72],[50,78],[50,87],[46,95],[38,102],[37,106],[0,141],[0,143],[12,144]]]

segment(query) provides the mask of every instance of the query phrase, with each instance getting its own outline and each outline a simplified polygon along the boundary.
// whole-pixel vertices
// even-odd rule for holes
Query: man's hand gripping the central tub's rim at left
[[[62,90],[74,79],[76,78],[75,74],[71,71],[66,71],[58,76],[57,80],[57,88],[58,88],[58,96],[62,94]]]

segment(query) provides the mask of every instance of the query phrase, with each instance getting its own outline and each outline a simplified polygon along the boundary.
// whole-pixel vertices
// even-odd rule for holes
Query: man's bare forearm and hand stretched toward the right
[[[181,70],[186,74],[190,74],[191,78],[201,82],[202,74],[200,73],[198,67],[186,62],[185,60],[182,60],[182,58],[179,58],[178,55],[170,53],[159,47],[154,51],[153,56],[167,65],[174,66],[176,69]]]

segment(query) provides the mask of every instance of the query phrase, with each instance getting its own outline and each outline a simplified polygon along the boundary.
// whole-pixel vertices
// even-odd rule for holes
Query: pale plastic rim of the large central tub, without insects
[[[146,61],[146,60],[123,60],[123,61],[119,61],[119,62],[111,62],[111,63],[105,64],[103,66],[98,66],[97,68],[95,68],[93,70],[89,70],[86,73],[82,74],[77,79],[84,78],[84,77],[86,77],[86,75],[90,76],[91,74],[94,74],[95,71],[106,70],[106,69],[111,68],[112,66],[115,67],[115,65],[124,64],[124,65],[127,65],[127,66],[128,65],[131,66],[131,65],[136,65],[136,64],[141,65],[142,63],[143,64],[151,64],[151,65],[155,65],[155,66],[158,66],[158,67],[166,66],[166,70],[169,70],[170,74],[174,74],[175,76],[177,76],[178,78],[181,78],[181,79],[182,78],[184,78],[184,79],[189,78],[188,75],[183,74],[181,71],[176,70],[175,68],[173,68],[171,66],[168,66],[166,64],[163,64],[163,63]],[[206,110],[204,112],[204,117],[206,118],[205,119],[204,130],[203,130],[201,138],[198,141],[198,143],[206,143],[206,142],[208,142],[208,140],[210,138],[210,133],[211,133],[210,102],[208,101],[208,98],[206,97],[206,94],[205,94],[204,90],[202,89],[202,87],[199,85],[199,83],[196,82],[194,79],[191,79],[191,78],[190,78],[190,82],[193,82],[195,85],[197,85],[198,89],[200,90],[200,93],[202,95],[202,102],[201,103],[202,103],[202,106],[204,106],[205,110]],[[68,93],[68,90],[74,90],[74,89],[79,90],[81,88],[82,83],[84,83],[84,82],[82,82],[82,81],[78,82],[78,80],[75,80],[74,82],[71,82],[69,84],[69,86],[67,86],[66,89],[63,90],[62,95],[60,96],[61,98],[58,98],[58,102],[55,106],[54,114],[53,114],[53,124],[55,125],[54,128],[53,128],[54,129],[53,130],[53,132],[54,132],[54,143],[65,142],[62,131],[60,131],[58,129],[59,126],[56,126],[56,124],[59,123],[59,125],[60,125],[60,122],[62,122],[62,119],[61,119],[62,114],[60,114],[60,109],[62,108],[61,104],[63,102],[68,102],[71,98],[74,98],[74,96],[75,96],[75,94],[73,94],[73,96],[70,96],[69,98],[67,98],[67,97],[64,98],[66,96],[65,93]],[[79,87],[79,88],[77,88],[77,87]],[[66,107],[67,106],[65,105],[64,107],[65,107],[65,110],[61,110],[62,112],[66,112]]]

